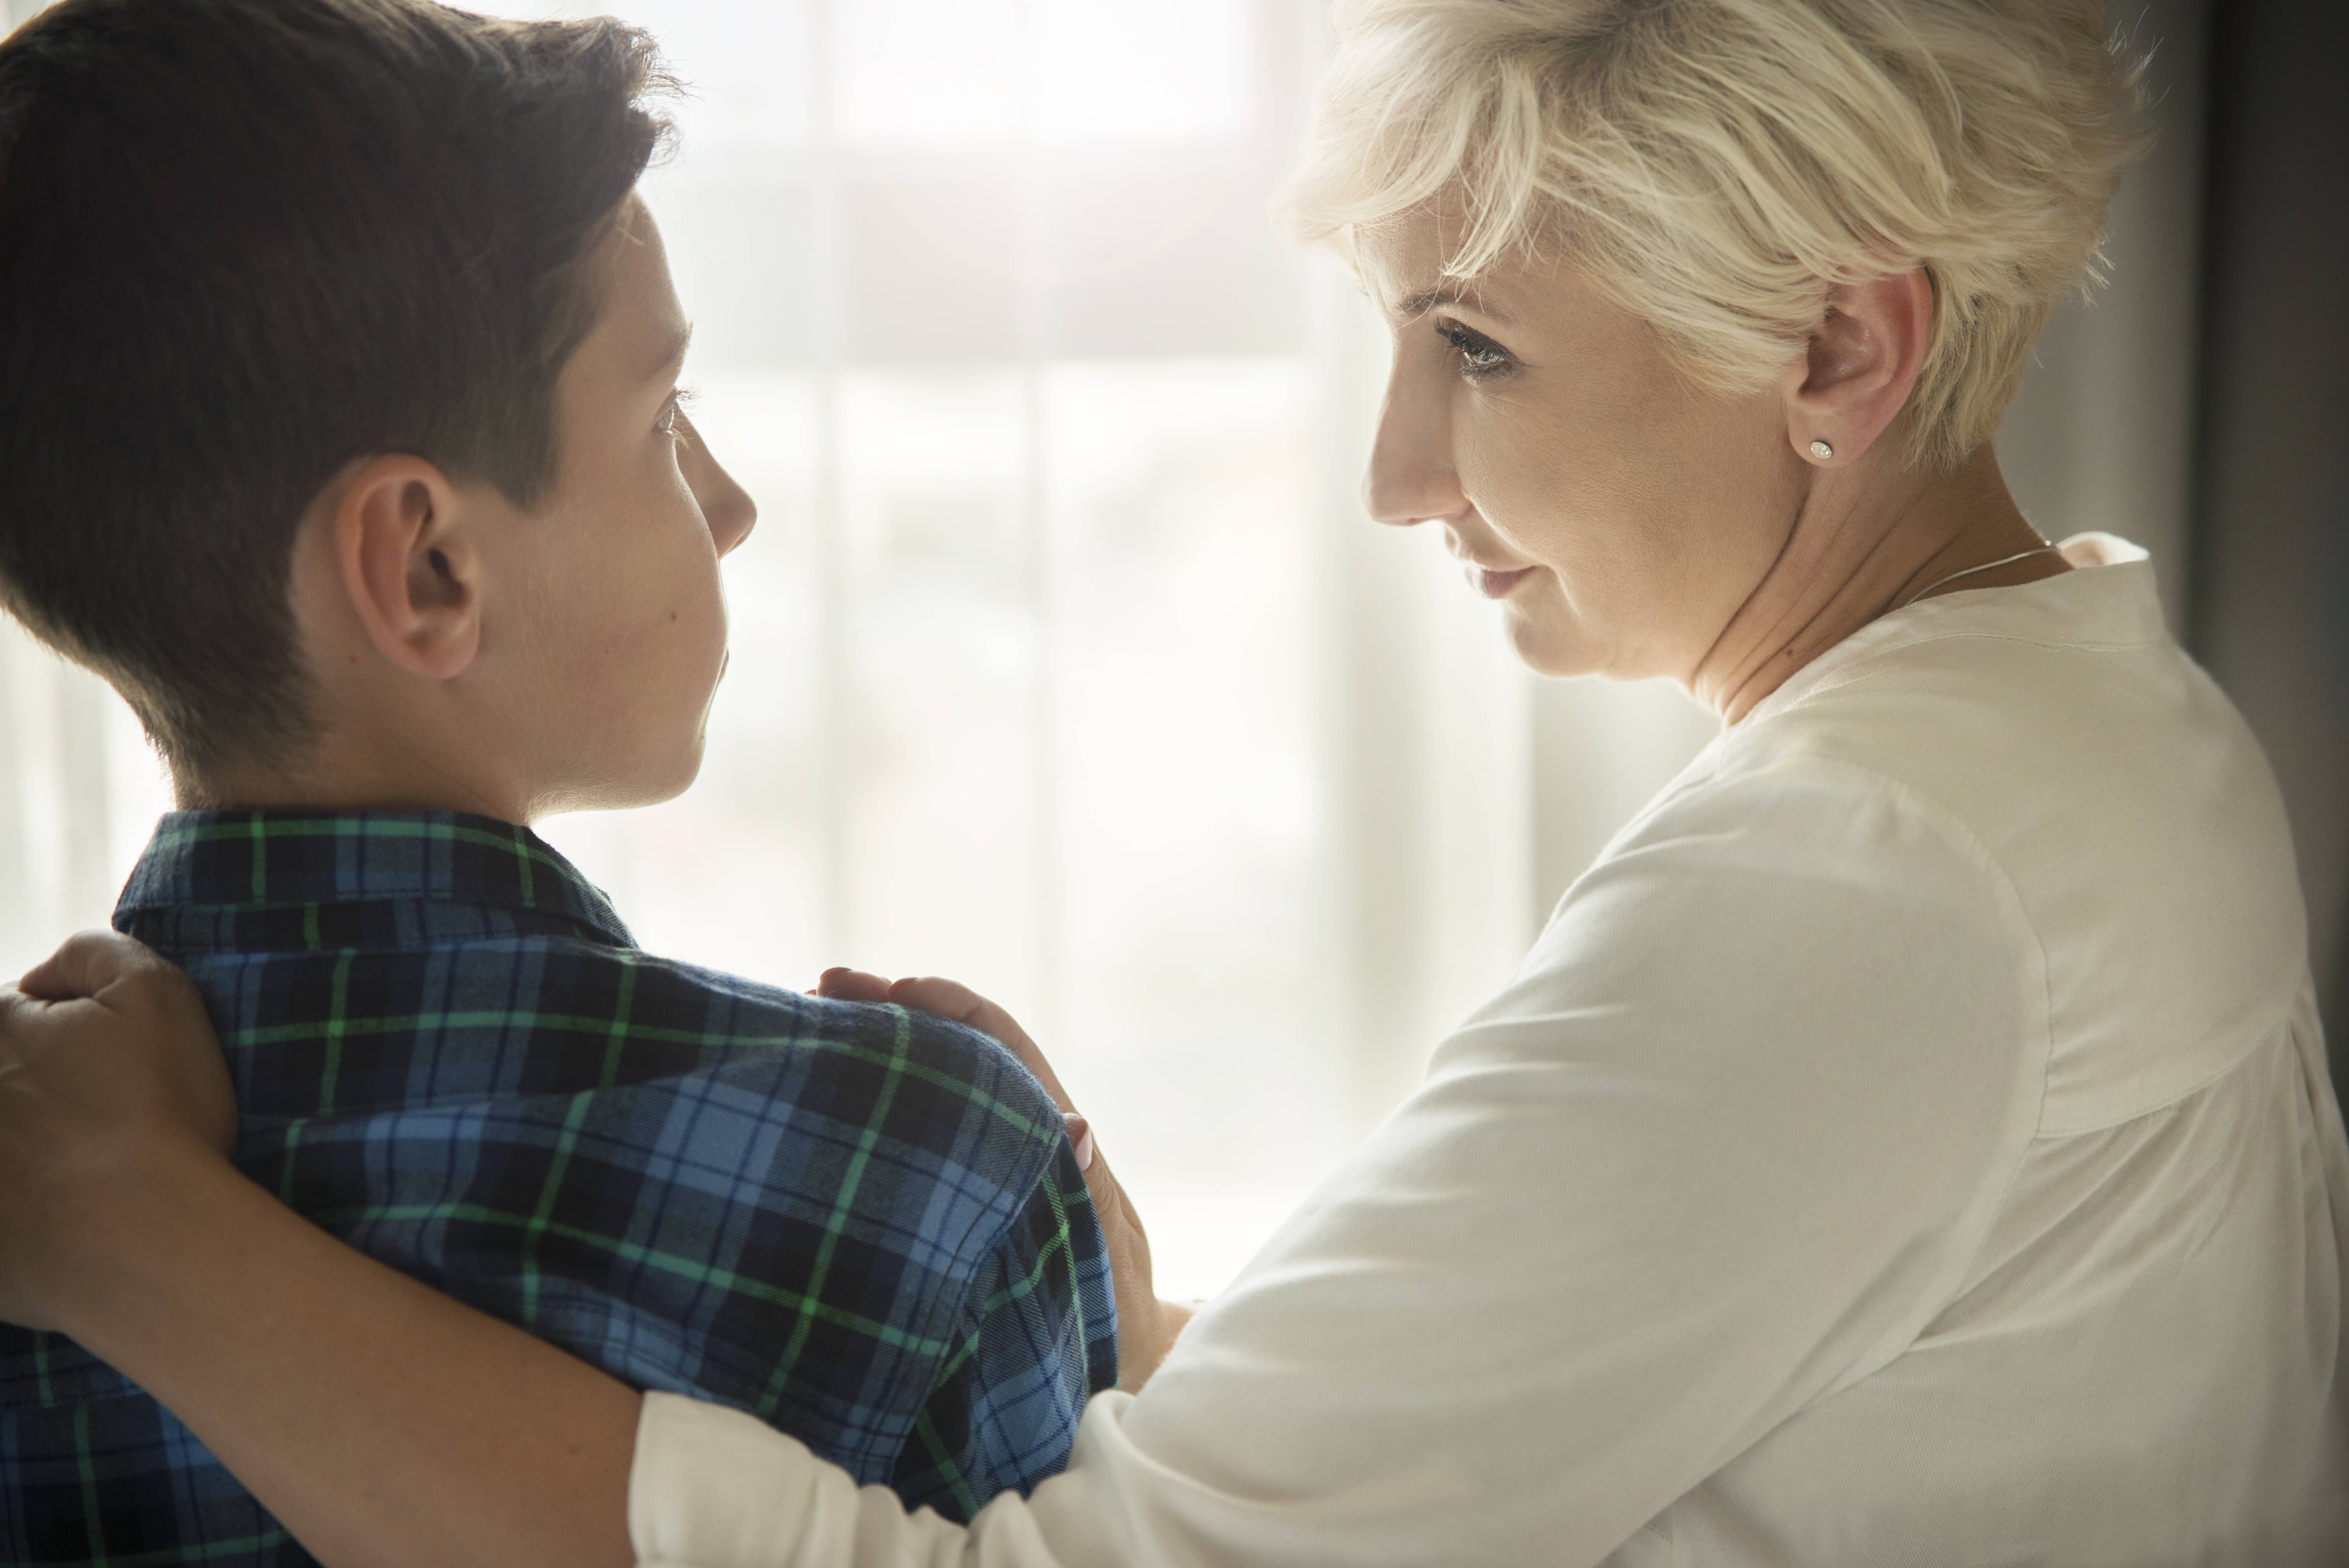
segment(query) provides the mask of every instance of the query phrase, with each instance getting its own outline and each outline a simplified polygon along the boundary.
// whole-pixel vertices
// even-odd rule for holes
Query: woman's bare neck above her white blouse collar
[[[1903,467],[1893,446],[1879,441],[1884,458],[1813,469],[1778,559],[1687,681],[1722,723],[1745,718],[1797,669],[1940,589],[1950,573],[2044,545],[1987,444],[1950,472]],[[2062,556],[2030,554],[1947,587],[2011,587],[2062,570],[2072,570]]]

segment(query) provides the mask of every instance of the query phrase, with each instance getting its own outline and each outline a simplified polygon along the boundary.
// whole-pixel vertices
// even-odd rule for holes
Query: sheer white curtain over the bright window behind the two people
[[[1536,688],[1433,535],[1362,521],[1384,331],[1264,221],[1320,0],[615,9],[693,85],[646,192],[693,418],[761,523],[700,784],[545,831],[653,951],[1001,998],[1137,1190],[1163,1289],[1207,1293],[1710,718]],[[2145,300],[2044,373],[2128,373],[2065,345],[2182,329]],[[2142,488],[2131,439],[2034,420],[2025,488]],[[21,965],[103,922],[164,796],[99,683],[14,627],[0,676]]]

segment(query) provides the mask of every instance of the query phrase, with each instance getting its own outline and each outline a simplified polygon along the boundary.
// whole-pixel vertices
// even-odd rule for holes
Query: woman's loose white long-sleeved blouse
[[[651,1394],[639,1559],[2349,1563],[2283,810],[2142,552],[2065,554],[1722,732],[1034,1498]]]

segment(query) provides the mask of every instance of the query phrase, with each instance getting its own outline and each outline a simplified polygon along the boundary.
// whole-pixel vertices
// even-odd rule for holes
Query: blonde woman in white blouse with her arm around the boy
[[[1341,2],[1292,216],[1395,331],[1369,509],[1724,730],[1031,1500],[907,1519],[308,1230],[106,941],[12,1005],[0,1312],[336,1568],[2342,1561],[2276,793],[2142,554],[1987,444],[2133,108],[2093,0]]]

